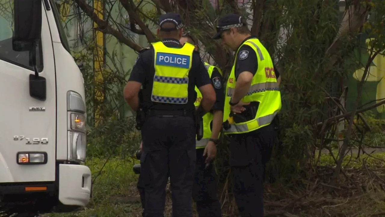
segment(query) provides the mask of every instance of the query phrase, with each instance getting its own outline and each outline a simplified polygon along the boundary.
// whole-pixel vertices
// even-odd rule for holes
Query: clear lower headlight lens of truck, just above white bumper
[[[84,132],[68,131],[68,155],[72,161],[85,161],[87,139]]]

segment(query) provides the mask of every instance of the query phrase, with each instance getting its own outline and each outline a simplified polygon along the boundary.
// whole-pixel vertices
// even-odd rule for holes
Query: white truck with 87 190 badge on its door
[[[3,208],[70,210],[91,197],[84,80],[60,19],[53,0],[0,0]]]

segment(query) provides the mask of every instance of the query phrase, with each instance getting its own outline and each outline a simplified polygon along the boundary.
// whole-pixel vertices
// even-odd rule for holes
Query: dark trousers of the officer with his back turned
[[[167,174],[172,192],[172,215],[192,216],[195,134],[192,117],[153,116],[144,122],[140,175],[145,192],[144,216],[164,216]]]

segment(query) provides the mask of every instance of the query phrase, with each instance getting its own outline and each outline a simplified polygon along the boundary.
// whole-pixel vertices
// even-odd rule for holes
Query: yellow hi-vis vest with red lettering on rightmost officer
[[[275,115],[281,110],[281,93],[275,77],[273,61],[271,60],[270,54],[258,39],[248,39],[243,44],[253,48],[257,54],[258,70],[251,81],[248,93],[241,99],[241,101],[259,102],[259,106],[257,114],[252,120],[242,123],[232,123],[231,118],[229,119],[229,114],[231,112],[229,101],[234,93],[236,83],[235,64],[237,59],[235,59],[233,69],[227,80],[223,111],[223,122],[229,120],[230,128],[224,130],[224,134],[241,134],[269,125],[273,121]],[[237,54],[238,52],[239,49]]]

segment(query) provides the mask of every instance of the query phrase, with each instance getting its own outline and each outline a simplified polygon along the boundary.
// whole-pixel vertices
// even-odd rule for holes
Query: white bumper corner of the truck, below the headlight
[[[59,165],[59,201],[64,205],[85,207],[90,201],[91,171],[87,166]]]

